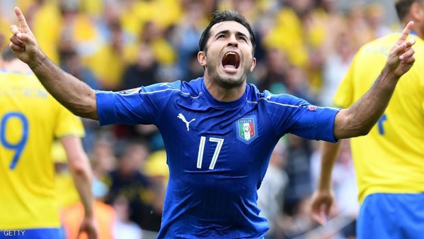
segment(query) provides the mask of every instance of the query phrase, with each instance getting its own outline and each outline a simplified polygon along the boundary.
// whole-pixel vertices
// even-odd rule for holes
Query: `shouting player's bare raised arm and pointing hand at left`
[[[14,12],[18,17],[19,27],[16,25],[10,27],[13,34],[10,37],[10,49],[16,57],[31,67],[44,88],[68,110],[79,116],[97,120],[94,90],[51,62],[38,47],[21,10],[15,8]]]

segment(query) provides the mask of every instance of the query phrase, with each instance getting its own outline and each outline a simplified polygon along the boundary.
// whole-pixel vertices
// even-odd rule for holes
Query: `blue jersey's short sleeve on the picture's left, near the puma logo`
[[[180,86],[181,81],[175,81],[120,92],[97,91],[98,121],[101,125],[155,124]]]

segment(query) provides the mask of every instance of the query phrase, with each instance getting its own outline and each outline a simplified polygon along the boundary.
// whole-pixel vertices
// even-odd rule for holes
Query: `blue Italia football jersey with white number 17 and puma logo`
[[[101,125],[154,124],[170,180],[159,238],[261,238],[256,190],[278,140],[287,133],[335,142],[339,111],[291,95],[259,92],[217,101],[203,78],[122,92],[96,92]]]

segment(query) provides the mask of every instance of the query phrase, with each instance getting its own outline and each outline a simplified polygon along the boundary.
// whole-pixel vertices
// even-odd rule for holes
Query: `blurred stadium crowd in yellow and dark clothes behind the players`
[[[53,62],[94,89],[124,90],[201,77],[198,40],[209,16],[214,10],[234,9],[246,16],[256,32],[258,61],[248,77],[250,83],[274,94],[289,93],[310,103],[331,105],[354,53],[390,31],[382,23],[382,6],[352,1],[342,9],[337,2],[3,0],[0,31],[10,36],[9,27],[15,22],[12,7],[17,5]],[[152,125],[83,123],[83,144],[95,175],[101,238],[155,236],[168,179],[159,132]],[[82,207],[59,144],[53,155],[57,195],[64,208],[62,221],[72,234],[69,231],[79,225]],[[271,226],[268,238],[355,238],[358,204],[349,144],[336,163],[337,205],[326,227],[318,227],[307,212],[318,171],[316,142],[292,135],[282,138],[259,190],[259,205]]]

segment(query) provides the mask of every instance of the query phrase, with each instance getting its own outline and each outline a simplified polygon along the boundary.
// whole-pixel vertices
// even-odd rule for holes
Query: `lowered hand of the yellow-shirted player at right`
[[[317,190],[312,196],[310,203],[310,216],[320,225],[326,224],[326,216],[330,214],[330,209],[334,201],[332,190]]]

